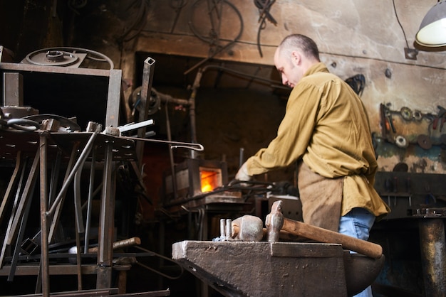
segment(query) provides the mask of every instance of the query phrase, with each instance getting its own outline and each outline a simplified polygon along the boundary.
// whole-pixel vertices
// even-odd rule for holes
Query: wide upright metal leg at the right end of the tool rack
[[[98,234],[98,276],[96,288],[109,288],[113,261],[113,221],[115,209],[115,178],[113,171],[113,144],[105,144],[103,187],[100,198],[100,222]]]

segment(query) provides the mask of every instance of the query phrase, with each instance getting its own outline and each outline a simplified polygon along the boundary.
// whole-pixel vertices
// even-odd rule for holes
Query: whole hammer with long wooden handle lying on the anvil
[[[277,200],[273,203],[271,210],[275,212],[281,212],[281,200]],[[328,229],[308,225],[304,222],[288,219],[284,217],[283,224],[280,224],[280,220],[271,220],[273,223],[268,224],[265,222],[266,229],[268,229],[268,238],[278,238],[276,234],[279,234],[281,230],[296,234],[301,237],[313,239],[318,242],[324,243],[336,243],[342,244],[343,248],[350,249],[353,252],[358,252],[370,258],[379,259],[383,255],[383,247],[373,242],[367,242],[362,239],[350,237],[338,232],[333,232]]]

